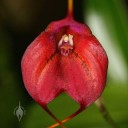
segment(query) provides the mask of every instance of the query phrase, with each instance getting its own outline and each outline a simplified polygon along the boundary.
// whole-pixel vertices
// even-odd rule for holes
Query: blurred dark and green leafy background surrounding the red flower
[[[0,127],[46,128],[54,120],[28,95],[20,62],[26,47],[47,25],[67,13],[67,0],[0,0]],[[104,103],[120,128],[128,128],[128,1],[74,0],[74,15],[104,46],[109,71]],[[19,121],[16,110],[22,106]],[[59,118],[79,105],[65,94],[48,107]],[[67,128],[111,128],[95,104],[65,124]]]

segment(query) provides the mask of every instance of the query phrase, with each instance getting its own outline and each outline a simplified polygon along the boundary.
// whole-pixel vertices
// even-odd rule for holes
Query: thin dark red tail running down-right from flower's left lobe
[[[62,128],[66,128],[63,123],[61,121],[59,121],[54,114],[48,109],[47,106],[43,106],[43,109],[62,127]],[[53,128],[53,127],[49,127],[49,128]]]

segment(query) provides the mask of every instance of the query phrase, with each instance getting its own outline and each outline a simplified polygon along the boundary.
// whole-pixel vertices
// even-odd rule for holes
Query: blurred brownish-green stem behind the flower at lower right
[[[118,128],[118,126],[110,116],[109,112],[107,111],[101,97],[95,101],[95,104],[99,108],[104,119],[112,126],[112,128]]]

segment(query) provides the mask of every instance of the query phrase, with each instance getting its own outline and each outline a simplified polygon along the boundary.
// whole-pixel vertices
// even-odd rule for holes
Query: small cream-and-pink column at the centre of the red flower
[[[63,56],[68,56],[73,50],[73,35],[63,35],[58,43],[58,49]]]

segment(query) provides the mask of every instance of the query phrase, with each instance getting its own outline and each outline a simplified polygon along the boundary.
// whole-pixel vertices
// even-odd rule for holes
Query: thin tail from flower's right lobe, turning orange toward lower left
[[[84,110],[84,108],[81,106],[75,113],[73,113],[72,115],[68,116],[66,119],[62,120],[61,122],[62,122],[62,123],[65,123],[65,122],[71,120],[73,117],[75,117],[76,115],[78,115],[78,114],[79,114],[80,112],[82,112],[83,110]],[[56,124],[51,125],[51,126],[48,127],[48,128],[55,128],[55,127],[57,127],[57,126],[59,126],[59,125],[60,125],[60,123],[56,123]]]

